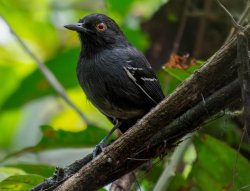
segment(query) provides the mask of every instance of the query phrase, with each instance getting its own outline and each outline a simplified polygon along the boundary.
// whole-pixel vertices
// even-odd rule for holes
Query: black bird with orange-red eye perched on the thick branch
[[[77,77],[82,89],[115,124],[97,145],[95,156],[115,129],[125,132],[164,95],[147,59],[128,42],[114,20],[91,14],[65,27],[76,31],[81,41]]]

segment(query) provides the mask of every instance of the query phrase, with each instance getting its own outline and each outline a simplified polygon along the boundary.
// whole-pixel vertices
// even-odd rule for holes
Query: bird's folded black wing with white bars
[[[164,99],[159,81],[151,66],[143,55],[128,60],[123,66],[130,80],[154,103],[157,105]]]

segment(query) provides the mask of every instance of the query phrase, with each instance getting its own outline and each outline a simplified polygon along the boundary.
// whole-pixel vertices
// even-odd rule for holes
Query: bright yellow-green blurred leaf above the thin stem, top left
[[[1,15],[5,17],[14,31],[24,39],[39,56],[52,55],[58,47],[55,27],[51,23],[49,1],[0,2]],[[13,19],[15,18],[15,19]]]

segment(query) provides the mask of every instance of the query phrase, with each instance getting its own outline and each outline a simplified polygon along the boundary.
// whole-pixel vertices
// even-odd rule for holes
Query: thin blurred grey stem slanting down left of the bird
[[[24,41],[18,36],[18,34],[12,29],[8,21],[1,16],[3,21],[7,24],[9,27],[9,30],[11,34],[16,38],[17,42],[20,44],[20,46],[23,48],[23,50],[35,61],[37,64],[39,70],[42,72],[44,77],[47,79],[49,84],[54,88],[54,90],[58,93],[59,96],[71,107],[80,117],[81,119],[86,123],[89,124],[88,118],[82,113],[82,111],[68,98],[63,86],[60,84],[60,82],[57,80],[57,78],[54,76],[54,74],[47,68],[47,66],[28,48],[28,46],[24,43]]]

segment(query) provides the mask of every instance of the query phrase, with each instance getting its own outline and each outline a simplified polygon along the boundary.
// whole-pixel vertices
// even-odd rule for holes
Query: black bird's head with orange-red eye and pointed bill
[[[115,21],[103,14],[88,15],[65,28],[76,31],[84,48],[91,51],[128,44]]]

